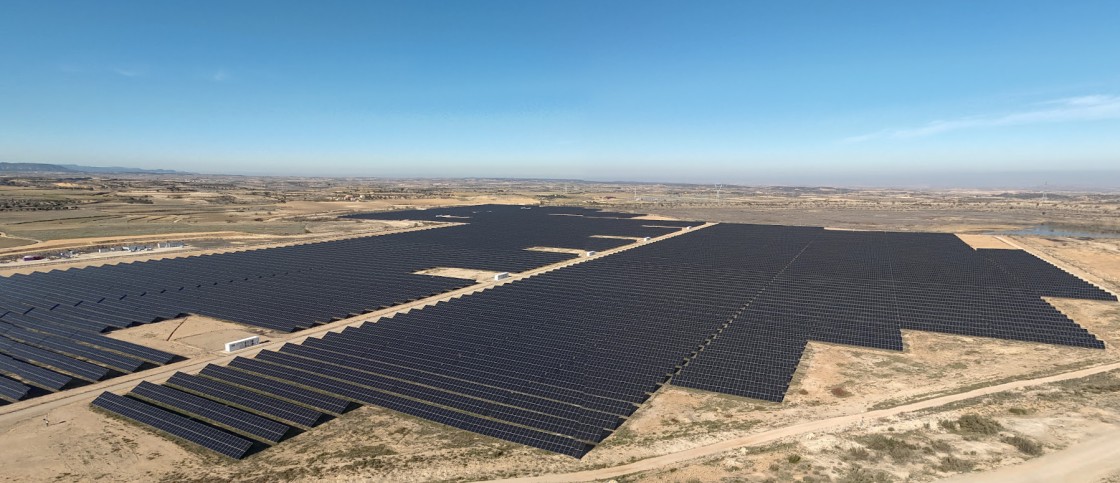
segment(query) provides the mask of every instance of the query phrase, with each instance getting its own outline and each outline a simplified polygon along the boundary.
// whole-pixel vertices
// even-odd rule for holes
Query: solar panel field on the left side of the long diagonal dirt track
[[[675,230],[625,219],[545,216],[563,210],[473,210],[483,214],[456,220],[470,224],[439,230],[0,278],[0,354],[15,360],[0,365],[0,375],[12,378],[8,386],[29,384],[20,398],[57,391],[176,357],[104,332],[186,314],[292,332],[474,284],[414,275],[420,270],[519,272],[575,257],[524,250],[530,247],[603,250],[632,240],[591,235]],[[19,387],[11,387],[17,389],[2,399],[19,399],[11,397]]]

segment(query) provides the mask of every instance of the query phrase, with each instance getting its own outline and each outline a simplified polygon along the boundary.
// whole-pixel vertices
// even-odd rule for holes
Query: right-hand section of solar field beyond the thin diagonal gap
[[[973,250],[944,233],[814,230],[787,243],[799,253],[674,384],[782,401],[808,341],[900,351],[903,328],[1104,347],[1042,297],[1116,298],[1027,252]]]

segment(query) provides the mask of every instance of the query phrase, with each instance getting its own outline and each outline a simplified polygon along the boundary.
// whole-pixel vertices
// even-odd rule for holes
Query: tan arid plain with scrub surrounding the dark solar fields
[[[0,275],[187,257],[408,230],[444,222],[339,220],[449,205],[548,204],[652,217],[836,230],[958,233],[974,248],[1028,250],[1120,291],[1120,195],[1071,191],[900,191],[552,180],[379,180],[136,175],[0,178]],[[451,223],[454,221],[449,221]],[[1057,234],[1008,234],[1019,230]],[[177,249],[97,250],[185,242]],[[78,252],[72,258],[59,253]],[[45,260],[22,261],[24,257]],[[562,263],[561,263],[562,264]],[[554,269],[558,267],[550,267]],[[472,277],[473,275],[465,275]],[[474,275],[477,276],[477,275]],[[508,282],[515,284],[516,280]],[[487,284],[464,290],[485,288]],[[466,295],[469,296],[469,295]],[[439,297],[444,299],[446,297]],[[424,304],[395,307],[360,321]],[[1070,458],[1120,435],[1120,305],[1049,299],[1107,349],[905,332],[902,353],[811,343],[782,403],[666,386],[582,459],[362,407],[244,461],[228,461],[91,410],[103,387],[0,406],[6,481],[1021,481],[1017,465]],[[187,359],[276,334],[190,316],[118,331]],[[170,368],[170,366],[169,366]],[[1089,443],[1086,443],[1089,442]],[[1088,446],[1086,446],[1088,445]],[[1116,455],[1074,457],[1086,480],[1120,479]],[[1026,462],[1026,463],[1025,463]],[[1004,480],[1000,480],[1004,479]]]

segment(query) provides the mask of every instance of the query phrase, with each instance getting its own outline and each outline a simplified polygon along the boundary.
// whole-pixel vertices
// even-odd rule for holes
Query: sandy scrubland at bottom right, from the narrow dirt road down
[[[516,481],[924,482],[1008,467],[1039,454],[1061,455],[1070,445],[1075,445],[1075,452],[1093,447],[1099,436],[1120,429],[1118,368],[1120,363],[1112,363],[1008,382],[861,415],[797,422],[616,467]],[[981,425],[964,426],[964,418]],[[1046,481],[1110,474],[1118,464],[1099,451],[1084,456],[1060,457],[1071,466],[1048,468],[1056,477]],[[979,474],[977,481],[984,481],[984,475]],[[995,481],[1001,481],[998,474]]]

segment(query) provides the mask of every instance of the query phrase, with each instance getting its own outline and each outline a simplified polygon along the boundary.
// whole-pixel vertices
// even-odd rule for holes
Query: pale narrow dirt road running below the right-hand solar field
[[[551,482],[566,483],[566,482],[578,482],[578,481],[607,480],[607,479],[618,477],[618,476],[623,476],[623,475],[627,475],[627,474],[632,474],[632,473],[638,473],[638,472],[644,472],[644,471],[648,471],[648,470],[655,470],[655,468],[659,468],[659,467],[662,467],[662,466],[670,466],[670,465],[681,464],[681,463],[684,463],[684,462],[689,462],[691,459],[702,458],[702,457],[707,457],[707,456],[713,456],[713,455],[718,455],[720,453],[724,453],[724,452],[727,452],[727,451],[730,451],[730,449],[740,448],[740,447],[744,447],[744,446],[759,446],[759,445],[773,443],[773,442],[782,439],[782,438],[787,438],[787,437],[804,435],[806,433],[837,430],[837,429],[840,429],[840,428],[843,428],[843,427],[850,427],[850,426],[860,425],[860,424],[862,424],[865,421],[869,421],[869,420],[874,420],[874,419],[886,418],[886,417],[890,417],[890,416],[897,416],[897,415],[902,415],[902,414],[905,414],[905,412],[920,411],[920,410],[923,410],[923,409],[936,408],[936,407],[944,406],[944,405],[948,405],[948,403],[951,403],[951,402],[963,401],[965,399],[972,399],[972,398],[978,398],[978,397],[981,397],[981,396],[995,394],[995,393],[998,393],[998,392],[1004,392],[1004,391],[1009,391],[1009,390],[1015,390],[1015,389],[1021,389],[1021,388],[1032,387],[1032,386],[1042,386],[1042,384],[1048,384],[1048,383],[1052,383],[1052,382],[1066,381],[1066,380],[1070,380],[1070,379],[1079,379],[1079,378],[1084,378],[1084,377],[1088,377],[1088,375],[1093,375],[1093,374],[1098,374],[1098,373],[1101,373],[1101,372],[1108,372],[1108,371],[1114,371],[1114,370],[1120,370],[1120,362],[1114,362],[1114,363],[1104,364],[1104,365],[1098,365],[1098,366],[1093,366],[1093,368],[1082,369],[1082,370],[1072,371],[1072,372],[1065,372],[1065,373],[1055,374],[1055,375],[1047,375],[1045,378],[1028,379],[1028,380],[1023,380],[1023,381],[1014,381],[1014,382],[1008,382],[1008,383],[1004,383],[1004,384],[998,384],[998,386],[991,386],[991,387],[987,387],[987,388],[974,389],[974,390],[971,390],[971,391],[968,391],[968,392],[961,392],[959,394],[942,396],[940,398],[927,399],[927,400],[924,400],[924,401],[912,402],[912,403],[903,405],[903,406],[896,406],[894,408],[879,409],[879,410],[867,411],[867,412],[857,414],[857,415],[839,416],[839,417],[829,418],[829,419],[821,419],[821,420],[816,420],[816,421],[801,422],[801,424],[797,424],[797,425],[786,426],[784,428],[772,429],[772,430],[768,430],[768,431],[763,431],[763,433],[754,434],[754,435],[750,435],[750,436],[745,436],[745,437],[741,437],[741,438],[728,439],[728,440],[725,440],[725,442],[719,442],[719,443],[707,445],[707,446],[700,446],[700,447],[696,447],[696,448],[691,448],[691,449],[685,449],[683,452],[670,453],[668,455],[655,456],[655,457],[652,457],[652,458],[646,458],[646,459],[642,459],[642,461],[637,461],[637,462],[634,462],[634,463],[629,463],[629,464],[625,464],[625,465],[619,465],[619,466],[613,466],[613,467],[606,467],[606,468],[598,468],[598,470],[588,470],[588,471],[575,472],[575,473],[550,474],[550,475],[529,476],[529,477],[520,477],[520,479],[511,479],[511,480],[497,480],[497,481],[502,481],[502,482],[521,482],[521,483],[529,483],[529,482],[533,482],[533,483],[551,483]],[[1102,457],[1102,458],[1110,457],[1110,458],[1112,458],[1112,461],[1114,461],[1118,464],[1120,464],[1120,458],[1116,457],[1116,456],[1120,456],[1120,445],[1116,445],[1116,440],[1114,439],[1112,440],[1111,445],[1114,446],[1114,448],[1111,448],[1109,451],[1110,452],[1114,452],[1114,453],[1109,453],[1107,455],[1100,455],[1100,457]],[[1080,445],[1077,445],[1077,446],[1080,446]],[[1089,455],[1086,455],[1086,457],[1088,456]],[[1052,479],[1052,480],[1048,480],[1048,481],[1062,481],[1062,480],[1053,480]]]

